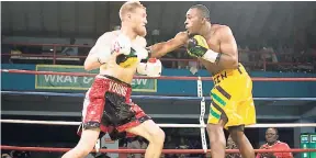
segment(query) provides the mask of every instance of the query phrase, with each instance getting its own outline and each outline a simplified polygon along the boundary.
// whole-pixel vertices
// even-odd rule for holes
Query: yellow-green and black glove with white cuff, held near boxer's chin
[[[189,40],[188,54],[193,57],[203,58],[211,63],[217,63],[221,54],[208,48],[206,40],[201,35],[194,35]]]

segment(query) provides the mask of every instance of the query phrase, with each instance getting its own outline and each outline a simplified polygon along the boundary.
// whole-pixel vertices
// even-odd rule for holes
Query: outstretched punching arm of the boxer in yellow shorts
[[[150,57],[153,58],[162,57],[166,54],[183,46],[188,40],[189,40],[188,34],[185,32],[180,32],[173,38],[167,42],[154,44],[148,47],[150,52]]]

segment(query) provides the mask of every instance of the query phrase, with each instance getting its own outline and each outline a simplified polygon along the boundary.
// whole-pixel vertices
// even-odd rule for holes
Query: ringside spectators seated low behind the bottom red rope
[[[196,136],[181,136],[174,135],[176,131],[171,132],[166,137],[165,149],[201,149],[202,142],[200,135]],[[276,128],[268,128],[264,137],[266,144],[260,144],[260,149],[291,149],[286,142],[279,139],[279,132]],[[148,142],[142,137],[135,137],[133,140],[127,140],[123,146],[131,149],[146,149]],[[210,148],[210,146],[207,146]],[[227,137],[226,149],[238,149],[238,145],[233,140],[230,135]],[[210,154],[165,154],[163,158],[205,158],[211,157]],[[256,158],[293,158],[292,153],[263,153],[257,154]],[[128,155],[128,158],[144,158],[144,155]],[[240,154],[226,154],[226,158],[241,158]]]

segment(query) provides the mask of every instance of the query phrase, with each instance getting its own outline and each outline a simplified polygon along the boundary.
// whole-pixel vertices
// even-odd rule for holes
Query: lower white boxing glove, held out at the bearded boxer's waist
[[[156,58],[149,58],[147,63],[139,63],[137,66],[137,72],[148,77],[160,77],[161,69],[161,61]]]

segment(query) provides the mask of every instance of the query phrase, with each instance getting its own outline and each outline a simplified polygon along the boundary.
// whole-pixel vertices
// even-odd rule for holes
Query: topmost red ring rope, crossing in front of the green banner
[[[27,74],[27,75],[60,75],[60,76],[78,76],[78,77],[94,77],[95,74],[84,72],[56,72],[56,71],[35,71],[35,70],[19,70],[19,69],[1,69],[2,72],[11,74]],[[135,79],[161,79],[161,80],[198,80],[198,77],[180,77],[180,76],[161,76],[151,78],[147,76],[135,76]],[[201,77],[201,80],[213,80],[212,77]],[[316,81],[316,78],[252,78],[253,81]]]

